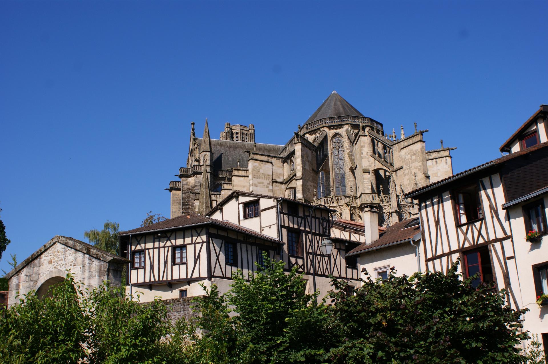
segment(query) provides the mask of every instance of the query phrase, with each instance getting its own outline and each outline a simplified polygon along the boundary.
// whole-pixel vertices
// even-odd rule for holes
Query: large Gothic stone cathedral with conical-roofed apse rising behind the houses
[[[415,123],[386,134],[336,91],[286,145],[257,143],[255,128],[225,124],[219,139],[207,124],[201,138],[191,123],[189,154],[177,181],[169,183],[171,217],[206,215],[234,190],[326,205],[338,218],[363,222],[374,211],[379,226],[418,213],[404,194],[453,175],[450,150],[427,151]]]

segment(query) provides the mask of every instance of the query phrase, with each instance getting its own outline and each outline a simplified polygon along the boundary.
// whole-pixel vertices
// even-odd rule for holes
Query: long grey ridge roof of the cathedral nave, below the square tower
[[[275,144],[237,142],[234,140],[211,139],[210,143],[213,152],[213,168],[217,170],[237,168],[238,159],[240,160],[239,167],[247,168],[247,159],[249,158],[249,154],[246,153],[246,151],[278,155],[283,148],[283,146]],[[202,144],[203,138],[198,138],[198,152],[202,152]],[[254,147],[255,150],[253,150]]]

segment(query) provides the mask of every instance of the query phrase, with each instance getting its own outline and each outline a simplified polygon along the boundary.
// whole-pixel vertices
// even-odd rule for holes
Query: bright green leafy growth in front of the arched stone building
[[[108,284],[83,290],[72,275],[39,299],[31,291],[0,320],[0,362],[161,363],[169,331],[159,300],[139,304]]]

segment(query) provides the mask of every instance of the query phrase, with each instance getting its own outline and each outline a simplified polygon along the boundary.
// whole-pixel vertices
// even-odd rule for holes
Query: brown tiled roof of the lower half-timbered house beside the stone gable
[[[242,233],[254,235],[261,239],[282,243],[281,241],[275,238],[272,238],[272,236],[258,233],[255,230],[244,228],[242,226],[239,226],[238,224],[234,224],[228,221],[221,221],[208,216],[198,215],[197,213],[185,213],[184,215],[177,216],[174,218],[169,218],[167,220],[157,222],[155,224],[142,226],[140,228],[136,228],[132,230],[126,230],[124,232],[120,232],[118,235],[147,233],[147,232],[152,232],[157,230],[182,228],[185,226],[191,226],[191,225],[197,225],[197,224],[214,224],[216,226],[221,226],[221,227],[229,228],[232,230],[238,230]]]

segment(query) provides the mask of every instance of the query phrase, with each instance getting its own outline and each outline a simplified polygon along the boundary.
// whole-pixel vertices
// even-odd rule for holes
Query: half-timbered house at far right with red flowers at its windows
[[[460,258],[465,277],[478,274],[473,284],[494,282],[512,308],[530,310],[524,328],[545,344],[548,305],[538,308],[535,301],[548,293],[547,112],[542,105],[505,142],[501,151],[510,154],[407,195],[419,205],[424,268],[446,272]],[[540,233],[537,241],[526,241],[530,230]]]

